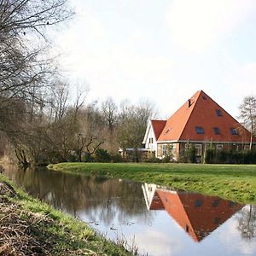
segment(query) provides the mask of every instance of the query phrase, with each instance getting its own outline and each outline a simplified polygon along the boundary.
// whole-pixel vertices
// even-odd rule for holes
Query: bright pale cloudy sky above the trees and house
[[[70,0],[55,35],[63,75],[88,100],[152,102],[166,119],[197,90],[235,118],[256,95],[255,0]]]

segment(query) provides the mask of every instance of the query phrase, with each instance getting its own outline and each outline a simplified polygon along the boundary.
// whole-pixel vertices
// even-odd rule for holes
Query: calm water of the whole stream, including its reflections
[[[47,169],[6,168],[30,195],[148,255],[256,255],[256,206]]]

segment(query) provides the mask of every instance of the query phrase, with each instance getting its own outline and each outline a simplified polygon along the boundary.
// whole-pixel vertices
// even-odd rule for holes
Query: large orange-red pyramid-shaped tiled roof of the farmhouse
[[[201,127],[203,132],[198,134],[195,127]],[[218,128],[218,134],[214,128]],[[231,128],[236,129],[238,134],[232,134]],[[204,91],[199,90],[167,119],[158,138],[159,142],[186,140],[249,143],[250,132]]]

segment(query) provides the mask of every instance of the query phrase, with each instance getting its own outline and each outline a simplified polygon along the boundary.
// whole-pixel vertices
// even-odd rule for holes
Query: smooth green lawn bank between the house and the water
[[[127,178],[256,204],[256,166],[61,163],[49,165],[49,169]]]

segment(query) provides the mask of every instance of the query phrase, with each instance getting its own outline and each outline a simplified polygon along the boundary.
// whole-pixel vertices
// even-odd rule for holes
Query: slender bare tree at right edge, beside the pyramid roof
[[[239,106],[240,116],[243,125],[251,132],[250,149],[253,144],[253,134],[256,134],[256,97],[246,96]]]

